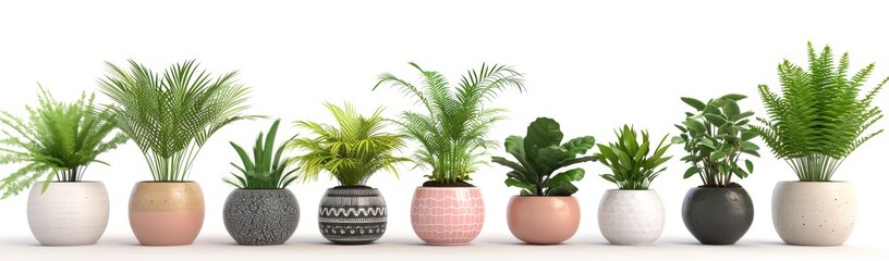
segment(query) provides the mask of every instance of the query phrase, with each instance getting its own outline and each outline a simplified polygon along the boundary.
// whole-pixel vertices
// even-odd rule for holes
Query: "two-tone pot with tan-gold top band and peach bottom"
[[[130,195],[130,227],[142,245],[190,245],[204,225],[204,194],[194,182],[141,182]]]

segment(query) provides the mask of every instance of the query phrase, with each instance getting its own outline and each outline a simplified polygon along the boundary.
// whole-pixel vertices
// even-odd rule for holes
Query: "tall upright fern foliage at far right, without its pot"
[[[829,46],[818,54],[808,42],[808,71],[788,60],[778,65],[782,95],[758,86],[769,117],[758,117],[762,125],[753,129],[801,182],[829,182],[852,151],[882,133],[865,134],[882,119],[872,103],[889,77],[860,98],[875,65],[849,75],[849,53],[833,62]]]

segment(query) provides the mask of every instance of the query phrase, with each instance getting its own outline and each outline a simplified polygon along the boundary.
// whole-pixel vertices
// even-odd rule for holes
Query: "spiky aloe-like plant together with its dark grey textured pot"
[[[231,163],[240,174],[222,181],[236,187],[226,199],[222,220],[226,231],[238,244],[263,246],[284,244],[300,223],[300,204],[288,185],[296,179],[297,169],[288,171],[290,162],[281,160],[284,146],[275,148],[275,136],[281,120],[275,121],[265,139],[256,137],[253,159],[239,145],[230,142],[241,159]]]

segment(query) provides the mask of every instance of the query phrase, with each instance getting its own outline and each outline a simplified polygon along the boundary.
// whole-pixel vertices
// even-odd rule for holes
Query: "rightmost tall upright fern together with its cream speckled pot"
[[[808,71],[787,60],[778,65],[782,95],[758,87],[769,117],[757,119],[762,125],[753,129],[799,178],[778,183],[771,198],[775,229],[790,245],[839,246],[849,238],[855,191],[832,177],[852,151],[882,132],[865,134],[882,117],[872,103],[889,77],[858,97],[874,64],[850,77],[849,53],[839,66],[833,61],[830,47],[818,54],[809,42]]]

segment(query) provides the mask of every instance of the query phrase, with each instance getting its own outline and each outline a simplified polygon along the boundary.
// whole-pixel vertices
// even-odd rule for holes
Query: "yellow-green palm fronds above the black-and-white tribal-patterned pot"
[[[303,170],[303,178],[317,179],[322,171],[337,178],[341,186],[364,186],[377,171],[398,175],[395,164],[410,161],[395,157],[404,148],[402,135],[383,133],[387,122],[378,108],[368,117],[361,115],[350,103],[344,109],[325,103],[339,126],[309,121],[297,121],[296,126],[309,130],[314,137],[293,139],[290,149],[307,151],[292,158]]]

